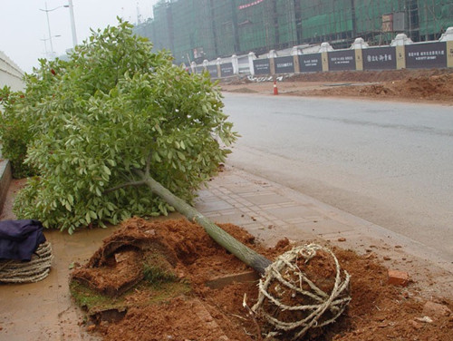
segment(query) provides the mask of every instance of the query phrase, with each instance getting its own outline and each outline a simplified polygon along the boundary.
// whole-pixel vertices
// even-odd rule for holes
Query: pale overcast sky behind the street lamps
[[[137,23],[140,17],[146,20],[152,16],[152,5],[158,0],[72,0],[74,8],[77,41],[79,44],[90,36],[90,28],[105,28],[116,25],[117,16]],[[49,31],[45,9],[48,12],[53,51],[64,54],[72,47],[71,18],[68,0],[0,0],[0,51],[3,51],[24,72],[32,72],[38,58],[50,52]],[[54,35],[60,35],[54,37]]]

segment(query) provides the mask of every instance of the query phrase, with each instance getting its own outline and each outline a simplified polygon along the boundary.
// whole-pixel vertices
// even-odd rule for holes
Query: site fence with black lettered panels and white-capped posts
[[[240,59],[243,60],[242,63]],[[207,71],[212,78],[225,78],[241,73],[267,77],[284,73],[451,67],[453,67],[453,27],[449,27],[447,33],[438,41],[413,43],[405,34],[399,34],[390,45],[369,46],[363,39],[358,38],[349,49],[335,50],[332,45],[323,43],[319,45],[316,53],[304,53],[303,49],[294,47],[291,55],[278,55],[271,51],[265,58],[256,58],[255,54],[250,53],[239,58],[233,55],[229,59],[205,61],[202,65],[194,62],[190,72]]]

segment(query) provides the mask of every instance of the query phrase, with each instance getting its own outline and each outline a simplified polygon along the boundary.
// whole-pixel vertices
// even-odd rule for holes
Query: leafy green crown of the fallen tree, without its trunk
[[[222,146],[236,140],[219,90],[207,74],[190,75],[151,47],[120,21],[93,32],[69,62],[42,61],[27,76],[27,101],[14,112],[27,116],[25,162],[39,177],[17,196],[18,218],[72,233],[167,214],[147,187],[106,190],[135,180],[149,162],[155,180],[191,201],[216,173],[229,152]]]

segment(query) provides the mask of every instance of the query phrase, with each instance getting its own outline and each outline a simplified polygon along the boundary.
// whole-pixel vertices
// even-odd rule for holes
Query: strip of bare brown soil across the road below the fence
[[[277,82],[280,94],[410,102],[453,102],[453,69],[300,73]],[[223,91],[272,94],[272,82],[220,84]]]

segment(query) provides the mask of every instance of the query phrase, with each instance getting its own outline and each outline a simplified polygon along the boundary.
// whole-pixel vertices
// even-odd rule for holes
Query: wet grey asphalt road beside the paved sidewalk
[[[225,93],[228,163],[453,262],[453,106]]]

